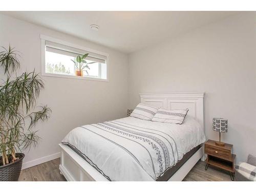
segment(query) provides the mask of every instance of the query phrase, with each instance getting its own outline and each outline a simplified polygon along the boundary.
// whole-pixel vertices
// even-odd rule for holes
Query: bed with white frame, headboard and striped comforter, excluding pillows
[[[204,93],[140,94],[141,103],[189,109],[183,124],[126,117],[83,125],[61,142],[68,181],[181,181],[201,158]]]

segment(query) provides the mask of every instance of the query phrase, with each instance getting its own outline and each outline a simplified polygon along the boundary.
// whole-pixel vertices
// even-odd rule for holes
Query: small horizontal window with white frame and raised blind
[[[65,78],[78,78],[90,80],[107,80],[108,54],[101,53],[89,48],[71,45],[51,37],[41,35],[42,39],[42,75]],[[74,64],[78,55],[89,55],[84,58],[80,71]]]

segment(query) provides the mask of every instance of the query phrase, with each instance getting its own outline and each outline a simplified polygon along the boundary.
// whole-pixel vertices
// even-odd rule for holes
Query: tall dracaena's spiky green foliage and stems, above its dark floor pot
[[[37,145],[39,137],[33,127],[38,121],[47,120],[51,109],[36,105],[40,90],[44,89],[39,74],[33,71],[17,76],[19,52],[10,46],[2,49],[0,66],[7,77],[0,83],[0,165],[5,165],[17,160],[17,152]]]

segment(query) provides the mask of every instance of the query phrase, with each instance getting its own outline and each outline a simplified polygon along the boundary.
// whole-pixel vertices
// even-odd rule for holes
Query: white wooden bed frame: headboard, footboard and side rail
[[[141,103],[165,109],[189,109],[188,114],[204,127],[204,92],[142,93]],[[69,146],[59,144],[61,157],[59,170],[68,181],[108,181]],[[197,161],[205,160],[203,146],[191,156],[168,181],[182,181]]]

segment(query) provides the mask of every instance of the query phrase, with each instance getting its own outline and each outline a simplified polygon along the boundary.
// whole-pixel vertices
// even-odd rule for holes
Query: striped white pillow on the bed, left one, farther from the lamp
[[[154,108],[154,106],[139,103],[130,116],[143,120],[151,120],[156,112],[157,108]]]

